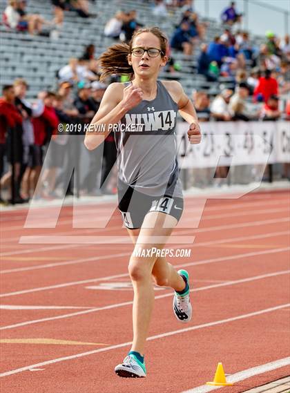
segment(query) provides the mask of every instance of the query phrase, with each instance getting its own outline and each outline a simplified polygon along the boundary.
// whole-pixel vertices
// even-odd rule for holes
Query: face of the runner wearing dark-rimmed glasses
[[[151,32],[143,32],[135,37],[132,48],[156,48],[161,50],[160,40]],[[128,62],[133,66],[135,75],[146,78],[157,77],[160,67],[166,64],[166,57],[162,57],[161,53],[157,57],[149,57],[148,52],[144,52],[140,57],[130,54]]]

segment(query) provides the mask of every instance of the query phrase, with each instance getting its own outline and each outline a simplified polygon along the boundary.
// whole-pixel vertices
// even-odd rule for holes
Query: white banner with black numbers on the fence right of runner
[[[177,126],[177,145],[182,168],[290,162],[289,122],[201,123],[202,142],[189,143],[188,124]]]

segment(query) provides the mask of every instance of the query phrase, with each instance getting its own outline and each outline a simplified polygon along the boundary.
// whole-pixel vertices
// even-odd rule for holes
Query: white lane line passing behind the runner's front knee
[[[222,262],[224,260],[236,260],[236,259],[240,259],[240,258],[248,258],[248,257],[251,257],[251,256],[265,255],[265,254],[271,254],[271,253],[279,253],[279,252],[284,252],[284,251],[289,251],[289,250],[290,250],[290,247],[282,247],[280,249],[255,251],[255,252],[251,252],[251,253],[240,253],[240,254],[236,254],[236,255],[233,255],[233,256],[224,256],[224,257],[219,257],[219,258],[210,258],[210,259],[204,259],[204,260],[197,260],[195,262],[183,263],[181,265],[176,265],[176,266],[177,267],[182,267],[182,266],[187,267],[187,266],[195,266],[195,265],[206,265],[206,264],[214,263],[214,262]],[[90,278],[89,280],[64,282],[62,284],[48,285],[46,287],[23,289],[22,291],[13,291],[13,292],[7,292],[5,294],[1,294],[0,298],[4,298],[4,297],[7,297],[7,296],[30,294],[30,293],[33,293],[33,292],[46,291],[48,289],[57,289],[57,288],[71,287],[73,285],[87,284],[88,282],[97,282],[97,281],[102,281],[102,280],[109,280],[110,278],[120,278],[120,277],[126,277],[126,276],[128,276],[128,273],[126,273],[126,274],[115,274],[114,276],[108,276],[108,277]]]

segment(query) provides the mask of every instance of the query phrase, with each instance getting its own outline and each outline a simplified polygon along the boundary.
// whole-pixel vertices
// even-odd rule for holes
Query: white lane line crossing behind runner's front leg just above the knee
[[[221,239],[221,240],[212,240],[209,242],[194,243],[193,248],[204,247],[204,246],[209,246],[209,245],[220,245],[223,243],[230,243],[230,242],[240,242],[242,240],[255,240],[255,239],[261,239],[261,238],[272,238],[274,236],[283,236],[283,235],[289,235],[289,234],[290,234],[290,231],[280,231],[280,232],[262,233],[260,235],[253,235],[253,236],[238,236],[237,238],[226,238],[226,239]],[[179,248],[180,246],[176,246],[176,247],[172,247],[172,248],[174,249],[177,247]],[[48,263],[45,265],[33,265],[33,266],[27,266],[27,267],[18,267],[15,269],[1,270],[0,274],[10,274],[10,273],[16,273],[19,271],[46,269],[46,268],[50,268],[50,267],[61,267],[61,266],[66,266],[66,265],[77,265],[79,263],[85,263],[85,262],[91,262],[91,261],[103,260],[103,259],[105,260],[108,258],[119,258],[122,256],[130,256],[130,255],[131,255],[131,253],[108,254],[108,256],[80,258],[77,260],[71,260],[71,261],[67,261],[67,262],[55,262],[55,263]]]

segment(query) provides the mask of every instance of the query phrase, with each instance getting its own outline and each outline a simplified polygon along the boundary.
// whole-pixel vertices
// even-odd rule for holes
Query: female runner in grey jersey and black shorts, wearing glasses
[[[167,42],[159,28],[143,28],[129,45],[116,44],[101,55],[101,80],[128,74],[131,82],[108,86],[84,142],[93,150],[115,126],[118,208],[135,244],[128,265],[134,289],[133,343],[123,363],[115,367],[116,374],[124,377],[146,376],[144,346],[154,301],[152,278],[157,285],[175,290],[173,311],[178,320],[189,322],[192,313],[187,271],[176,271],[164,257],[150,252],[164,248],[183,211],[177,111],[189,123],[191,144],[201,140],[195,109],[181,84],[157,79],[167,61]],[[99,132],[101,125],[105,131]]]

